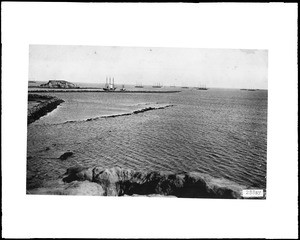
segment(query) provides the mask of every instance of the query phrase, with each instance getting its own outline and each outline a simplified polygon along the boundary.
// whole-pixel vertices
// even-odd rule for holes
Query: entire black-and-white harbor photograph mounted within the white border
[[[27,194],[266,198],[268,51],[31,45]]]

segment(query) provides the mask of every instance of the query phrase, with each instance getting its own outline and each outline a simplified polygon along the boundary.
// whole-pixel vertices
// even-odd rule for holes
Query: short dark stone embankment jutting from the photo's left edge
[[[29,101],[39,101],[40,103],[30,109],[28,109],[27,114],[27,123],[33,123],[38,120],[40,117],[46,115],[48,112],[53,111],[59,104],[63,103],[64,100],[46,96],[46,95],[38,95],[38,94],[29,94]]]

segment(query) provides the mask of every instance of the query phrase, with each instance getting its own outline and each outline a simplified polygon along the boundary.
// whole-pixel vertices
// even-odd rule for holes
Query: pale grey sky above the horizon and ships
[[[268,88],[268,51],[239,49],[29,46],[29,80],[211,88]]]

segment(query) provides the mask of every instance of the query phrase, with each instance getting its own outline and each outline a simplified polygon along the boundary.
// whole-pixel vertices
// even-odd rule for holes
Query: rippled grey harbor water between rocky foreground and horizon
[[[65,102],[28,126],[27,189],[59,179],[73,166],[196,171],[266,189],[265,90],[41,94]],[[173,106],[97,118],[168,104]],[[58,159],[66,151],[73,157]]]

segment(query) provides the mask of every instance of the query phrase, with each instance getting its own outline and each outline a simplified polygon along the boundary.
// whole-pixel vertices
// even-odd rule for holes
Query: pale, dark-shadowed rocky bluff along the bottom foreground
[[[198,172],[134,171],[119,167],[69,168],[61,183],[30,194],[101,196],[174,196],[181,198],[242,198],[245,186]]]

